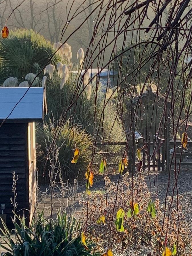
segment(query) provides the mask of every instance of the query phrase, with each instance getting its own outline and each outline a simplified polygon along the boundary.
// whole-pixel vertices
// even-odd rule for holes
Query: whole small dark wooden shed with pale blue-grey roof
[[[4,119],[7,119],[0,127],[0,204],[5,204],[4,213],[7,215],[6,222],[10,228],[13,225],[11,220],[13,172],[18,176],[16,212],[21,215],[24,212],[28,224],[34,213],[35,122],[43,121],[44,111],[47,112],[43,87],[0,88],[0,125]]]

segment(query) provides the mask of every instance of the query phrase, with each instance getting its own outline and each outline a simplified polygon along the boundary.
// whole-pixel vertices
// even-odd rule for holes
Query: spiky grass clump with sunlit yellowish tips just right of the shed
[[[39,177],[42,177],[43,168],[46,161],[47,148],[49,148],[55,131],[58,126],[54,126],[54,122],[50,120],[48,125],[39,127],[37,130],[37,143],[40,144],[37,152],[37,165],[40,171]],[[83,171],[86,170],[86,166],[92,156],[92,138],[86,133],[82,127],[78,125],[71,126],[69,120],[61,127],[61,131],[56,141],[59,149],[59,163],[61,165],[61,172],[63,178],[74,179],[77,176],[79,168]],[[77,164],[72,164],[73,149],[75,147],[80,151],[80,157]],[[48,172],[46,172],[48,174]]]

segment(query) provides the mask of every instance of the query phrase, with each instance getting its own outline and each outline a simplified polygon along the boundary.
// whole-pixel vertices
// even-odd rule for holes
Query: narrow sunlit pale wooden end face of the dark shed
[[[29,156],[29,224],[36,204],[36,148],[35,148],[35,123],[28,124],[28,156]]]

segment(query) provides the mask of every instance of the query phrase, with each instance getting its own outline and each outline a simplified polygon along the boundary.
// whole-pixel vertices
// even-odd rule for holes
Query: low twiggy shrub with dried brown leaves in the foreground
[[[119,174],[116,178],[118,179],[118,177]],[[136,255],[131,250],[133,248],[141,249],[143,254],[139,253],[138,255],[147,255],[148,253],[145,251],[146,245],[147,251],[150,250],[151,255],[159,255],[159,243],[160,249],[163,251],[164,238],[166,237],[167,231],[168,247],[172,248],[174,243],[178,242],[178,255],[188,255],[188,252],[191,251],[191,230],[189,226],[185,225],[186,222],[183,220],[182,208],[179,207],[177,212],[177,199],[174,200],[170,212],[169,223],[172,223],[172,225],[166,230],[168,217],[166,214],[164,219],[164,203],[161,205],[159,199],[153,198],[156,211],[155,216],[152,216],[148,211],[148,205],[152,202],[152,198],[144,180],[144,176],[139,175],[138,177],[129,177],[129,174],[126,173],[120,177],[118,191],[117,179],[113,178],[113,180],[116,180],[113,182],[106,176],[106,193],[94,193],[95,191],[93,188],[90,188],[89,200],[87,201],[87,196],[85,195],[84,199],[80,201],[80,204],[82,205],[80,215],[81,222],[82,226],[86,225],[86,236],[104,248],[106,247],[106,243],[110,241],[109,247],[112,248],[112,251],[116,251],[117,255]],[[84,194],[85,193],[86,192],[84,192]],[[117,201],[115,201],[115,198]],[[114,202],[116,203],[115,206]],[[171,197],[168,197],[166,212],[170,207],[170,202]],[[135,209],[136,203],[138,204],[138,211],[131,214],[130,205],[134,204]],[[163,210],[161,207],[163,207]],[[125,216],[123,217],[123,221],[118,222],[116,214],[120,209],[124,210]],[[76,214],[79,215],[79,212]],[[105,216],[105,224],[103,224],[102,221],[99,221],[100,216]],[[182,224],[178,222],[178,216],[179,219],[182,220]],[[162,230],[163,220],[165,223],[164,229]],[[121,230],[117,230],[119,224],[121,225]],[[179,236],[177,237],[178,230]],[[161,232],[162,240],[160,241]]]

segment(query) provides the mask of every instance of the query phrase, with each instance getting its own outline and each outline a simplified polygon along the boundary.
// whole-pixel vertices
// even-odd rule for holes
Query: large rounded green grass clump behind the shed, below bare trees
[[[26,74],[36,73],[34,63],[43,68],[53,53],[51,43],[34,30],[10,31],[8,38],[0,38],[1,83],[7,77],[24,80]],[[55,55],[52,61],[59,61],[59,57]]]

